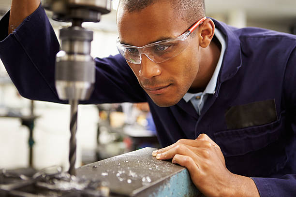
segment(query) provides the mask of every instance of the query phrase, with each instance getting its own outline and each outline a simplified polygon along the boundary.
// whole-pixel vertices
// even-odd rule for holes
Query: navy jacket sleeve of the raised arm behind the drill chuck
[[[9,12],[0,20],[0,58],[20,95],[33,100],[67,103],[55,88],[55,57],[59,42],[40,4],[13,33]],[[80,103],[144,102],[146,94],[120,55],[95,58],[96,83],[88,101]]]

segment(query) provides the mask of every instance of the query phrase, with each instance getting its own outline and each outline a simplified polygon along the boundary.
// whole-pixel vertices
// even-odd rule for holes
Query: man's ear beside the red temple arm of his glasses
[[[199,39],[199,45],[203,48],[206,48],[213,36],[215,31],[215,24],[210,19],[207,18],[198,28],[198,39]]]

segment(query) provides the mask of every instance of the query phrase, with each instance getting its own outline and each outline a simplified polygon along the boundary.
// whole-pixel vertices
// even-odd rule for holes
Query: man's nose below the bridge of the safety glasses
[[[142,54],[140,66],[139,75],[145,79],[150,79],[162,73],[161,67],[157,63],[151,61],[145,54]]]

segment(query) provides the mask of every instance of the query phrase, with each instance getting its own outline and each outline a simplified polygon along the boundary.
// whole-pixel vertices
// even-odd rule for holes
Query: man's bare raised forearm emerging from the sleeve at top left
[[[39,6],[40,0],[12,0],[8,34],[12,33],[23,20]]]

